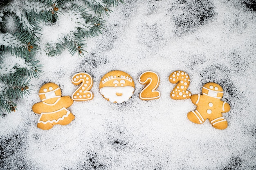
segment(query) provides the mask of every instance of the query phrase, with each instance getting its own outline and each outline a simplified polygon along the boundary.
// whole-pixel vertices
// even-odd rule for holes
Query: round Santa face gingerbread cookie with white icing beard
[[[122,103],[133,95],[135,84],[124,71],[110,71],[104,75],[99,84],[101,95],[110,102]]]

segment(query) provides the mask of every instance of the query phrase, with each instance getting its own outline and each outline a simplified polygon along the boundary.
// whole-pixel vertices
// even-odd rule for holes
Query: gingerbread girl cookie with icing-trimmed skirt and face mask
[[[73,104],[69,96],[61,97],[61,89],[57,84],[44,84],[39,90],[39,97],[42,102],[32,106],[34,113],[41,114],[37,127],[48,130],[56,124],[67,125],[75,117],[67,110]]]

